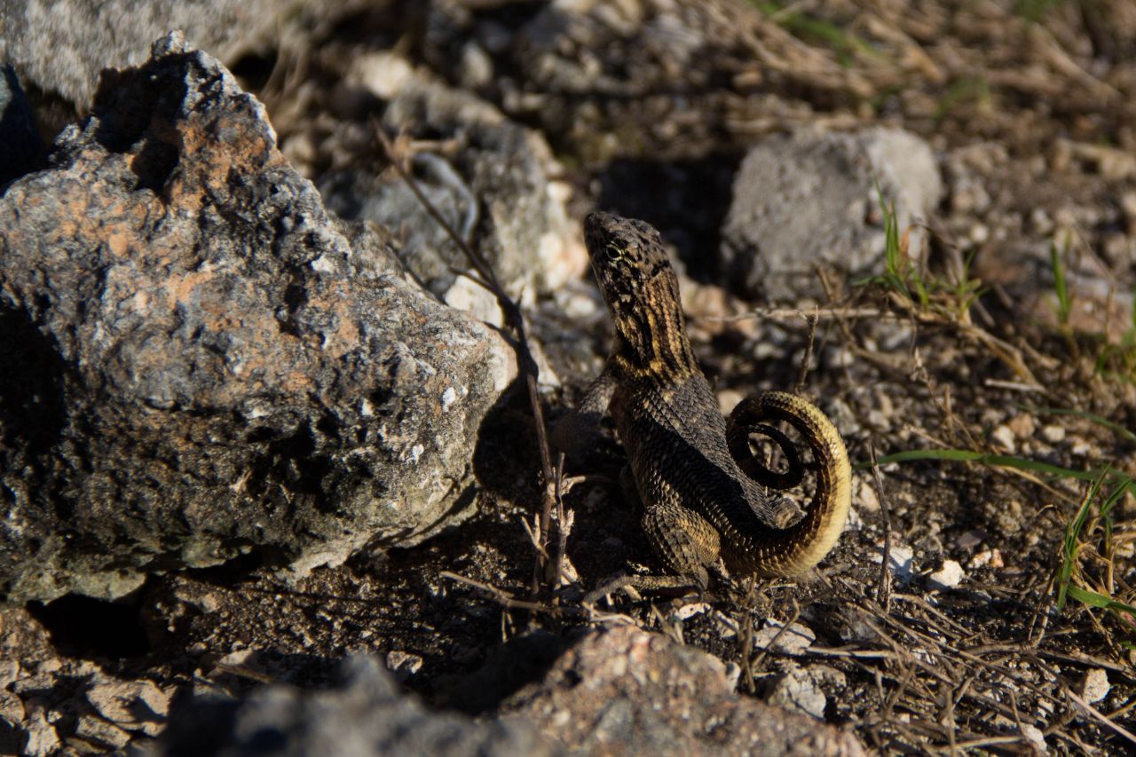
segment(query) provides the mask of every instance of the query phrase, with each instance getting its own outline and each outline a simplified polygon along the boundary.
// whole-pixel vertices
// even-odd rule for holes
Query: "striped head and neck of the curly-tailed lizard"
[[[592,213],[584,219],[584,241],[624,357],[651,372],[693,365],[678,276],[659,232],[642,221]]]

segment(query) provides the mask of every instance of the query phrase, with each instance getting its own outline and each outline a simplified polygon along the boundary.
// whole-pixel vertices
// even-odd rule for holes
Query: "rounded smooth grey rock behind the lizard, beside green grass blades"
[[[742,291],[779,302],[821,298],[818,266],[852,277],[883,273],[877,190],[894,202],[900,233],[926,221],[942,193],[930,147],[889,128],[765,140],[734,178],[722,264]],[[916,228],[911,250],[919,240]]]

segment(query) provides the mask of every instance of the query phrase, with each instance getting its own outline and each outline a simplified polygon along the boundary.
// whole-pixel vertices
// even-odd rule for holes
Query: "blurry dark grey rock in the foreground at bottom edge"
[[[175,709],[160,755],[554,755],[525,723],[431,713],[402,694],[373,657],[348,658],[326,691],[276,684],[240,702],[199,699]]]

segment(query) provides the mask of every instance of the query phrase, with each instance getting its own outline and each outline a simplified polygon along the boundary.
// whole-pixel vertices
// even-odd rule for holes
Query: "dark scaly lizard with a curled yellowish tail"
[[[585,604],[625,585],[704,591],[707,568],[719,557],[737,576],[793,576],[812,568],[836,543],[851,501],[851,467],[836,427],[812,404],[780,391],[742,400],[727,423],[691,349],[678,277],[659,232],[596,211],[585,218],[584,235],[615,343],[554,441],[565,447],[582,424],[610,413],[628,457],[621,481],[642,502],[648,541],[673,573],[623,576],[587,594]],[[794,427],[816,460],[817,490],[803,517],[796,505],[771,500],[762,489],[787,489],[803,479],[800,458],[775,422]],[[758,461],[750,433],[766,434],[784,450],[787,473]]]

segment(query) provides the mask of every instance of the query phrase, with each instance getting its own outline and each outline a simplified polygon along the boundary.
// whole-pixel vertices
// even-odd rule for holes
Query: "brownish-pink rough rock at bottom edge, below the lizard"
[[[583,754],[866,754],[851,733],[734,692],[720,659],[633,626],[591,632],[503,709]]]

